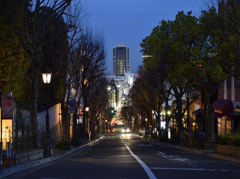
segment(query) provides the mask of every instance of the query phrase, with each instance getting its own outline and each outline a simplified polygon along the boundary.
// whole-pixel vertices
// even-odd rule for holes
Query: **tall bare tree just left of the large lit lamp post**
[[[14,11],[15,0],[9,0],[11,10]],[[43,46],[60,34],[69,32],[72,24],[67,24],[63,32],[59,32],[51,39],[46,39],[46,34],[52,25],[65,14],[65,10],[70,6],[71,1],[67,0],[23,0],[23,11],[19,16],[22,23],[11,19],[22,46],[24,47],[31,65],[31,133],[33,135],[33,147],[38,148],[38,122],[37,122],[37,94],[39,84],[40,65],[44,60]],[[44,8],[45,7],[45,8]],[[13,13],[12,13],[13,14]]]

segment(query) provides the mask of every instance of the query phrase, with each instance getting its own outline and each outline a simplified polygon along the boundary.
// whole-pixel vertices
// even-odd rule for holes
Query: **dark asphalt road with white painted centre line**
[[[240,178],[240,164],[142,140],[108,134],[62,158],[5,177],[8,179]]]

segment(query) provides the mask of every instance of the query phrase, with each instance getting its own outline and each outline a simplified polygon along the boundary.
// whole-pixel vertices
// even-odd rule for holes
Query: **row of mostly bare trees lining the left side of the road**
[[[71,88],[78,94],[76,109],[81,101],[84,108],[92,105],[93,121],[107,103],[103,38],[84,27],[80,1],[3,0],[0,11],[0,90],[13,92],[17,110],[31,111],[31,147],[39,148],[37,109],[46,98],[41,73],[50,69],[50,102],[60,101],[62,140],[69,140]],[[77,130],[74,120],[73,139],[85,137],[84,126]]]

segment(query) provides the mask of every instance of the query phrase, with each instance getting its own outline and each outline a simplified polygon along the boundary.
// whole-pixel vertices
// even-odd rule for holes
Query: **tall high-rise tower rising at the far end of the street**
[[[129,48],[120,43],[113,48],[113,75],[124,76],[129,71]]]

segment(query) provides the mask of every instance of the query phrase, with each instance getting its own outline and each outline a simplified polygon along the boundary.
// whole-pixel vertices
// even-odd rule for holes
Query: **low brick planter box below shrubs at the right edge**
[[[214,152],[223,155],[229,155],[232,157],[240,157],[240,147],[228,146],[228,145],[215,145]]]

